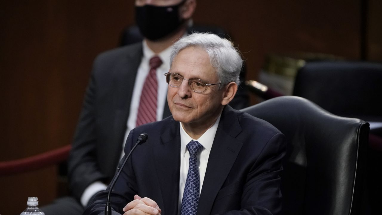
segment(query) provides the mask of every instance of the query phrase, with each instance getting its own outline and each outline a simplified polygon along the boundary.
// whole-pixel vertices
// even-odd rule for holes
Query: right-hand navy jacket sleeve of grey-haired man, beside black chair
[[[281,212],[280,172],[285,155],[285,136],[275,134],[249,170],[241,194],[241,210],[224,215],[276,215]],[[229,198],[229,197],[228,197]]]

